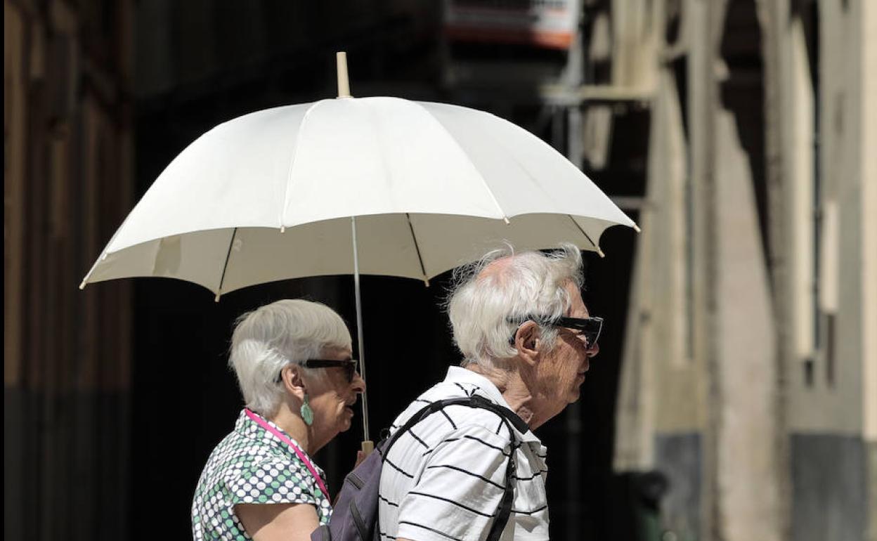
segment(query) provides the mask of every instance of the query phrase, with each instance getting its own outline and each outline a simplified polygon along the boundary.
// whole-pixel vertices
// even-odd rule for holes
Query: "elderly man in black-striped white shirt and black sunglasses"
[[[467,269],[448,303],[462,366],[450,367],[391,430],[426,403],[472,395],[520,419],[450,405],[401,434],[381,471],[381,539],[548,538],[545,447],[532,430],[579,398],[599,351],[602,320],[589,317],[582,281],[581,253],[571,245],[552,254],[488,253]],[[514,497],[500,530],[494,521],[510,457]]]

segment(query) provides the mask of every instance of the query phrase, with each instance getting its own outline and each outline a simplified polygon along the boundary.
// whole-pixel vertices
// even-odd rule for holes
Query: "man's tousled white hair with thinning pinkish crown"
[[[553,253],[515,253],[507,246],[455,271],[447,311],[462,364],[499,368],[496,359],[517,353],[510,337],[526,318],[547,321],[567,312],[568,282],[578,288],[584,282],[581,252],[572,244]],[[555,328],[540,325],[544,351],[551,351],[555,338]]]

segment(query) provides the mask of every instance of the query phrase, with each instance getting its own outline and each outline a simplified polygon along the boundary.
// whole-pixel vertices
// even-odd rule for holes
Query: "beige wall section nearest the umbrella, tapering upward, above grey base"
[[[699,431],[704,424],[702,363],[688,348],[685,183],[687,153],[679,89],[660,72],[652,114],[650,182],[639,223],[634,291],[619,393],[617,469],[649,468],[655,432]]]

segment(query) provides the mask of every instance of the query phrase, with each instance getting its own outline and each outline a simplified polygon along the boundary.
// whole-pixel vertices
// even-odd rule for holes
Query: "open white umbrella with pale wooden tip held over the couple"
[[[570,241],[602,255],[606,228],[637,229],[585,174],[530,132],[480,110],[396,97],[260,110],[196,139],[153,182],[86,274],[193,281],[220,295],[304,276],[431,277],[508,240]],[[363,423],[368,437],[367,402]]]

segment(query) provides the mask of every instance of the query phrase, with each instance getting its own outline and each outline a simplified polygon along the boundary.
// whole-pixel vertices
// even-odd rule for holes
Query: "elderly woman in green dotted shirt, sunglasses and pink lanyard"
[[[195,539],[309,539],[328,523],[325,476],[310,457],[350,428],[365,390],[350,343],[320,303],[283,300],[239,317],[229,364],[246,408],[201,473]]]

